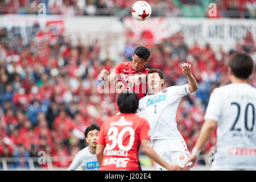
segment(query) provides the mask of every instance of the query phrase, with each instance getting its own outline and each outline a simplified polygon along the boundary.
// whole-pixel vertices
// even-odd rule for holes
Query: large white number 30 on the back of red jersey
[[[127,146],[123,146],[123,135],[129,132],[130,138]],[[118,129],[115,126],[109,128],[107,135],[109,136],[109,140],[112,140],[112,144],[106,144],[106,150],[113,150],[116,145],[120,150],[129,151],[131,147],[133,147],[134,139],[135,139],[135,131],[132,127],[126,126],[124,127],[118,134]]]

